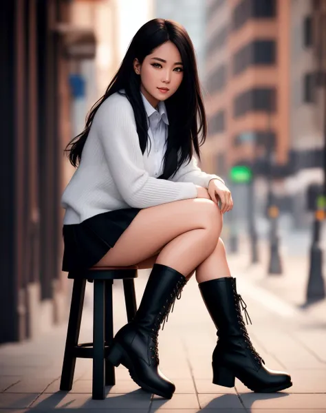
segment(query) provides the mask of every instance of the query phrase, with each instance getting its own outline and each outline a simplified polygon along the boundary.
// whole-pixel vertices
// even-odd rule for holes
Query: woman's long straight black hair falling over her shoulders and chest
[[[80,162],[83,147],[98,108],[111,94],[120,89],[124,89],[124,94],[133,107],[140,149],[144,153],[149,142],[148,126],[140,95],[140,76],[133,69],[133,61],[137,58],[142,63],[146,56],[166,41],[171,41],[179,50],[184,66],[184,76],[177,91],[165,100],[169,118],[169,134],[164,156],[164,173],[160,178],[168,179],[185,160],[188,159],[190,162],[193,148],[200,160],[199,147],[206,140],[207,123],[193,42],[186,29],[179,23],[166,19],[153,19],[142,25],[135,34],[105,94],[91,107],[85,129],[67,145],[65,151],[69,152],[69,160],[74,167],[77,167]],[[200,142],[199,134],[202,136]]]

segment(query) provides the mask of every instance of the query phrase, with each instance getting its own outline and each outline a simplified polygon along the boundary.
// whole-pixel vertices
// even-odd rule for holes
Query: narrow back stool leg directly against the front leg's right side
[[[113,340],[113,306],[112,306],[113,279],[105,280],[105,343],[111,346]],[[115,385],[116,374],[114,366],[105,359],[105,385]]]

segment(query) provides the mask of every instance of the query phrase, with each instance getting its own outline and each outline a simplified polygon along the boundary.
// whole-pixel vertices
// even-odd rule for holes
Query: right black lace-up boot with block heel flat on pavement
[[[237,377],[253,392],[269,393],[290,388],[290,375],[266,368],[265,361],[252,346],[240,304],[246,320],[250,317],[246,303],[237,294],[235,278],[210,279],[200,283],[199,290],[217,328],[213,383],[233,387]]]

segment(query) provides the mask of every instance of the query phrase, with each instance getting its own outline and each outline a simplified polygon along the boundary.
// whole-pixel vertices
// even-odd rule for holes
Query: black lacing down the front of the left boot
[[[150,347],[149,350],[153,352],[153,355],[151,356],[152,359],[155,359],[157,363],[159,363],[159,357],[158,357],[158,332],[160,330],[161,324],[163,323],[162,330],[164,329],[165,323],[169,320],[169,313],[171,310],[171,313],[173,313],[173,308],[175,304],[176,299],[181,298],[181,293],[182,293],[182,288],[186,285],[187,281],[185,277],[182,277],[179,281],[177,281],[177,285],[175,288],[173,288],[173,291],[171,292],[171,297],[170,299],[166,299],[166,304],[163,306],[162,311],[157,315],[155,321],[154,321],[154,328],[152,328],[152,335],[151,338],[154,343],[154,347]]]

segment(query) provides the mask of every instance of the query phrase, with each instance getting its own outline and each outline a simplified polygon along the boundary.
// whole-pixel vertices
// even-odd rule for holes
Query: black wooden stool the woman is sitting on
[[[72,390],[76,357],[93,359],[92,399],[105,399],[105,385],[116,384],[114,366],[106,359],[113,340],[112,284],[113,279],[123,279],[127,319],[131,321],[137,310],[133,282],[136,277],[138,266],[92,267],[69,273],[68,278],[74,279],[74,286],[60,390]],[[94,282],[93,342],[78,344],[86,280]]]

